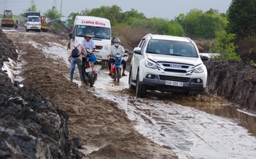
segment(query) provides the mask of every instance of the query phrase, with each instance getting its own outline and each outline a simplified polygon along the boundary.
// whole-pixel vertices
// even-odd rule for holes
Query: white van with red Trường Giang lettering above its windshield
[[[107,55],[111,46],[110,21],[102,17],[76,16],[74,20],[73,33],[71,35],[71,46],[77,41],[82,43],[85,35],[89,33],[96,46],[96,57],[98,60],[108,60]]]

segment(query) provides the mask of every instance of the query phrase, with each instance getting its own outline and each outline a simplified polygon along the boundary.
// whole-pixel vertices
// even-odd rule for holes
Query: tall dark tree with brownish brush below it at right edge
[[[256,62],[256,0],[233,0],[228,9],[228,33],[236,34],[236,52],[244,61]]]

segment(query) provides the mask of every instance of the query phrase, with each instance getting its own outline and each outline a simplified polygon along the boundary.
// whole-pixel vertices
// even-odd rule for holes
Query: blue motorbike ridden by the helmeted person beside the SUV
[[[121,65],[122,57],[125,57],[125,55],[117,52],[117,54],[112,54],[111,57],[115,58],[115,63],[111,63],[111,78],[114,79],[114,81],[119,82],[120,78],[122,78],[123,73],[123,65]]]

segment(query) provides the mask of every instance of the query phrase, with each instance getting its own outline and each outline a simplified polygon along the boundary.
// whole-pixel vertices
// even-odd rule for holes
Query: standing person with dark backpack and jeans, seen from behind
[[[79,57],[71,57],[71,52],[74,49],[74,47],[77,47],[77,49],[79,49]],[[74,46],[71,46],[71,49],[69,49],[69,58],[71,58],[70,81],[73,81],[74,68],[76,67],[76,64],[77,64],[81,86],[85,85],[85,83],[83,82],[83,74],[82,74],[82,55],[86,55],[86,54],[87,52],[85,51],[85,47],[78,41],[76,44],[74,44]]]

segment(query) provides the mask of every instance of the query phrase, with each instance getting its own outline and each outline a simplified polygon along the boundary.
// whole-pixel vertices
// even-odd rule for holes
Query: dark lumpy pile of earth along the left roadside
[[[1,65],[17,61],[11,39],[0,30]],[[79,138],[69,139],[69,115],[38,91],[14,84],[0,69],[0,158],[82,158]]]

